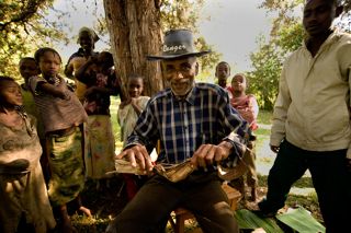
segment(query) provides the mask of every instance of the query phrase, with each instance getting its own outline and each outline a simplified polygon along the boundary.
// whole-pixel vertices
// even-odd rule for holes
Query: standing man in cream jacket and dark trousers
[[[336,0],[305,2],[308,37],[283,67],[270,141],[278,155],[259,203],[260,214],[273,215],[308,168],[327,232],[350,231],[351,36],[330,28],[341,12]]]

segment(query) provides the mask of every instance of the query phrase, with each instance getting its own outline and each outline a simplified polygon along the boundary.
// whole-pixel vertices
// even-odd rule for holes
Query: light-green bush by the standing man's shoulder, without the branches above
[[[258,39],[259,50],[250,55],[253,71],[248,73],[250,91],[258,97],[262,109],[272,109],[279,89],[282,63],[286,56],[296,50],[305,37],[301,23],[295,20],[274,32],[275,36],[265,42]]]

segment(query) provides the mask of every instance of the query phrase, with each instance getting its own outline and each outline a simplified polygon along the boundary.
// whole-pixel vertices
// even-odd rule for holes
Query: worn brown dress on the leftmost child
[[[0,232],[14,233],[24,214],[36,233],[56,225],[39,164],[35,118],[20,114],[20,128],[0,123]]]

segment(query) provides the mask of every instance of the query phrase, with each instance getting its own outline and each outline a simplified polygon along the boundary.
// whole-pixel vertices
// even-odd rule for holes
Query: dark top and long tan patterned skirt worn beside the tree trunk
[[[120,81],[114,72],[105,75],[86,75],[81,79],[88,86],[84,100],[84,109],[88,123],[84,126],[87,139],[84,155],[86,176],[92,179],[106,178],[107,172],[113,172],[115,142],[110,118],[110,94],[99,91],[99,88],[113,90],[113,95],[121,94]],[[98,88],[98,89],[95,89]]]

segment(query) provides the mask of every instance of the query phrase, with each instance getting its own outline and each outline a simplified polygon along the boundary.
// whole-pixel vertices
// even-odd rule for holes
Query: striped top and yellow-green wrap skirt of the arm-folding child
[[[29,83],[46,133],[52,172],[48,184],[49,199],[53,206],[61,206],[78,197],[84,187],[82,133],[79,126],[88,116],[61,77],[56,75],[49,81],[42,77],[31,77]],[[68,100],[37,90],[41,83],[56,86],[64,84]]]

